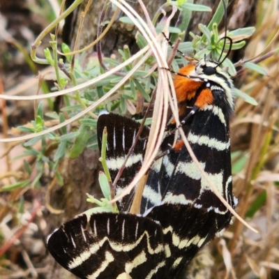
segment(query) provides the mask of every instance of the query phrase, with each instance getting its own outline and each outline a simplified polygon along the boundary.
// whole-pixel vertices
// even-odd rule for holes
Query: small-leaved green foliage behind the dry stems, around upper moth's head
[[[80,3],[80,0],[75,1],[73,5],[78,5],[78,3]],[[176,24],[176,26],[169,29],[171,33],[170,39],[173,41],[178,36],[181,38],[185,36],[184,30],[188,27],[193,10],[202,12],[211,11],[211,9],[206,6],[196,5],[192,3],[192,1],[185,0],[167,1],[167,3],[165,3],[165,5],[161,8],[163,9],[169,6],[176,6],[181,13],[181,18],[183,19],[179,22],[179,24]],[[159,20],[161,13],[160,10],[162,9],[159,9],[158,13],[156,13],[153,18],[153,23],[156,26],[158,34],[162,31],[162,28],[165,27],[165,19],[163,18],[162,20]],[[206,55],[215,60],[222,60],[225,56],[225,53],[223,53],[224,44],[225,49],[229,49],[229,40],[224,40],[223,36],[219,35],[218,31],[218,24],[222,20],[223,14],[223,4],[220,3],[211,22],[207,26],[199,24],[198,27],[199,31],[202,32],[202,36],[198,36],[190,32],[192,41],[181,43],[179,45],[179,50],[186,54],[195,54],[195,58],[197,59],[201,59],[204,55]],[[61,15],[59,19],[63,19],[63,16]],[[126,24],[134,24],[128,17],[121,17],[120,21]],[[245,44],[243,38],[250,36],[253,31],[253,28],[230,31],[227,36],[233,40],[232,49],[243,47]],[[50,47],[45,49],[45,59],[36,58],[36,54],[34,54],[33,50],[31,51],[31,56],[33,60],[38,63],[47,63],[54,66],[57,80],[54,84],[56,90],[61,91],[66,89],[66,86],[67,88],[70,86],[79,86],[80,84],[89,82],[90,80],[100,77],[103,73],[105,73],[105,70],[100,67],[96,56],[92,56],[85,67],[81,66],[80,61],[83,55],[81,54],[80,57],[77,58],[77,56],[70,53],[70,47],[68,47],[65,43],[61,45],[63,54],[66,54],[65,61],[62,61],[61,56],[59,56],[56,37],[53,34],[50,34],[50,36]],[[39,36],[38,38],[41,37]],[[148,45],[146,39],[141,33],[137,33],[136,40],[140,49]],[[172,51],[170,47],[168,51]],[[115,68],[131,57],[128,46],[124,46],[123,50],[119,50],[118,52],[118,59],[104,57],[103,63],[105,63],[107,68]],[[121,75],[115,73],[114,75],[110,75],[102,80],[99,80],[93,86],[85,86],[84,89],[77,89],[73,93],[63,95],[64,105],[59,114],[56,114],[55,112],[47,112],[47,114],[44,115],[43,103],[39,103],[35,119],[34,121],[31,121],[31,126],[20,126],[18,129],[24,133],[36,135],[36,133],[40,133],[47,129],[44,120],[45,116],[55,119],[56,121],[58,120],[59,123],[64,123],[66,119],[77,116],[77,114],[85,110],[89,107],[89,105],[106,96],[106,94],[109,93],[116,84],[122,81],[123,75],[126,75],[133,70],[136,63],[137,61],[128,63],[125,68],[122,68],[120,73]],[[126,114],[128,112],[127,103],[133,104],[133,102],[137,102],[139,94],[142,95],[145,102],[149,102],[151,100],[151,93],[155,88],[158,79],[157,72],[149,73],[149,70],[155,63],[155,57],[150,56],[149,59],[144,62],[142,67],[133,73],[128,82],[122,84],[119,89],[117,89],[114,94],[110,96],[109,100],[103,101],[103,103],[100,103],[100,105],[96,107],[94,113],[98,114],[100,110],[106,109],[109,111],[116,111],[119,114]],[[177,71],[179,70],[179,67],[185,63],[185,59],[179,57],[172,62],[172,66],[174,70]],[[228,68],[229,73],[234,75],[234,66],[229,59],[226,59],[223,64],[226,68]],[[255,66],[255,64],[247,63],[246,67],[261,72],[259,66]],[[241,93],[241,91],[236,89],[235,92],[238,96],[241,96],[241,98],[248,100],[248,102],[255,103],[252,98],[243,95],[244,93]],[[76,158],[86,147],[97,148],[96,115],[93,114],[93,112],[89,112],[87,115],[80,117],[77,124],[78,126],[63,126],[59,129],[58,133],[51,132],[45,135],[38,135],[23,144],[25,148],[23,156],[32,155],[36,157],[36,172],[31,172],[30,174],[30,183],[32,186],[40,186],[40,178],[43,175],[45,164],[48,165],[51,172],[54,172],[54,175],[58,179],[59,183],[63,185],[63,179],[58,172],[60,160],[65,156]],[[56,149],[51,157],[47,154],[48,140],[51,140],[52,144],[56,145]],[[36,144],[36,147],[34,144]],[[40,144],[39,149],[38,144]],[[22,187],[22,183],[15,185],[12,188],[15,187]]]

